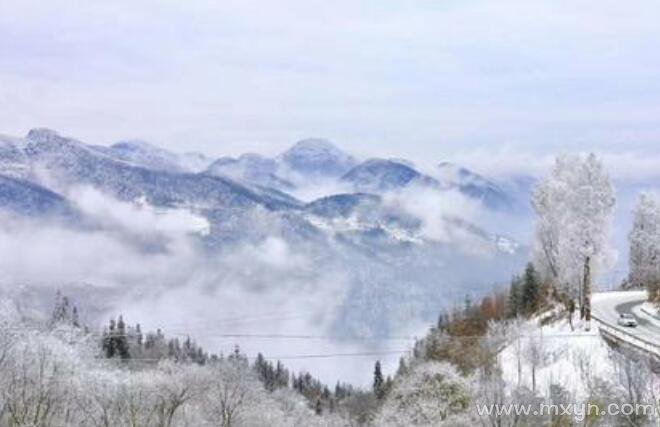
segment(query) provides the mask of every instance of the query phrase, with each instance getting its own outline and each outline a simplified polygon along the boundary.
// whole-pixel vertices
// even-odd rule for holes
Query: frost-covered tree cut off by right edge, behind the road
[[[660,204],[651,193],[642,193],[634,211],[630,241],[632,286],[646,287],[651,300],[658,299],[660,285]]]

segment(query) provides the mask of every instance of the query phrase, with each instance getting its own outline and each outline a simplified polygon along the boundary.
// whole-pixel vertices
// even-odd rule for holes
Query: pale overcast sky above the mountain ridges
[[[658,16],[657,0],[0,0],[0,133],[213,156],[319,136],[489,172],[577,148],[651,172]]]

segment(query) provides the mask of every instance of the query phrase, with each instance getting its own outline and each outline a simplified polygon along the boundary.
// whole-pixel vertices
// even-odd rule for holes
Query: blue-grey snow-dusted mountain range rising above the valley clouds
[[[507,280],[525,260],[525,248],[506,239],[503,230],[493,233],[466,218],[409,209],[408,200],[391,197],[413,184],[442,197],[444,186],[437,179],[398,161],[357,164],[326,141],[302,141],[274,159],[253,154],[222,158],[201,173],[177,168],[179,157],[143,143],[99,148],[48,129],[2,141],[0,209],[30,217],[67,216],[77,203],[72,189],[83,186],[122,203],[185,209],[203,217],[209,229],[195,237],[203,251],[199,258],[276,239],[281,243],[275,249],[284,245],[287,257],[308,260],[293,267],[310,275],[308,281],[320,280],[313,277],[327,271],[342,272],[342,298],[364,310],[334,313],[332,324],[341,334],[386,335],[408,324],[411,307],[416,316],[429,320],[438,306],[479,292],[484,283]],[[16,170],[20,179],[8,172]],[[313,185],[320,177],[335,179],[351,192],[304,203],[282,191],[305,180]],[[133,232],[116,235],[124,234],[130,245],[154,242]],[[154,249],[137,253],[145,250]],[[277,267],[272,268],[245,273],[241,282],[262,287],[276,274]],[[371,306],[375,299],[377,309]]]

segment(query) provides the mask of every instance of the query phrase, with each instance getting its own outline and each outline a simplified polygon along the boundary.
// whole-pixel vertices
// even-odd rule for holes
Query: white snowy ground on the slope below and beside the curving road
[[[543,317],[514,325],[499,356],[507,386],[511,390],[522,386],[547,394],[551,385],[559,384],[577,400],[589,397],[596,380],[616,386],[620,376],[617,357],[621,355],[609,347],[600,328],[625,332],[621,335],[624,338],[632,334],[658,340],[660,319],[648,314],[654,308],[645,305],[645,300],[644,291],[594,294],[593,314],[599,321],[593,321],[589,331],[577,313],[574,328],[565,317],[547,325],[541,325]],[[637,328],[618,326],[619,314],[624,312],[637,318]]]

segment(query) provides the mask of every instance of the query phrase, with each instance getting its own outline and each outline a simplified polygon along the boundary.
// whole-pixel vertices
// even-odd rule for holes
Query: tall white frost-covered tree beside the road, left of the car
[[[580,301],[591,317],[591,280],[612,258],[609,231],[616,199],[594,154],[563,155],[532,197],[534,261],[543,278]]]

